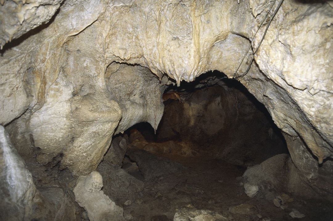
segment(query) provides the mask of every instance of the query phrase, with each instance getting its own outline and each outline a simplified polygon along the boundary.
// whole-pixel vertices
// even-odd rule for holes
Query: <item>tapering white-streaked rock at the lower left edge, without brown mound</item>
[[[0,125],[0,217],[1,220],[28,219],[33,212],[36,187],[23,159],[12,146],[5,128]]]

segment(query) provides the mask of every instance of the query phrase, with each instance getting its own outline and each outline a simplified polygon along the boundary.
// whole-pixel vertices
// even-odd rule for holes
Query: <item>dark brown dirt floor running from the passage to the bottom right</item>
[[[131,151],[129,148],[127,152]],[[143,153],[151,154],[146,151]],[[189,208],[211,210],[224,216],[225,220],[293,220],[295,218],[289,213],[295,209],[305,215],[297,220],[333,220],[333,207],[329,203],[300,199],[290,193],[268,193],[271,198],[281,194],[290,197],[284,204],[285,209],[281,209],[273,201],[267,200],[267,193],[266,196],[258,193],[254,198],[248,197],[242,183],[243,167],[202,155],[182,157],[167,154],[167,158],[165,154],[158,155],[156,157],[160,161],[166,160],[168,163],[157,164],[149,171],[154,173],[163,170],[165,173],[157,172],[159,175],[152,175],[154,178],[150,179],[145,179],[139,170],[140,166],[147,166],[150,162],[146,160],[144,164],[147,165],[142,165],[143,162],[140,165],[128,156],[124,158],[123,169],[144,182],[144,190],[136,196],[136,200],[128,206],[122,205],[124,217],[133,217],[132,220],[137,221],[166,221],[173,219],[177,209]],[[172,164],[178,163],[183,169],[170,169],[167,172],[168,166],[165,165],[172,168]]]

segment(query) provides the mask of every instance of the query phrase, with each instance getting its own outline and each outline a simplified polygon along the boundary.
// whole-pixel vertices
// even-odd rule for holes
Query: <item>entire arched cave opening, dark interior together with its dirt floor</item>
[[[157,130],[141,122],[117,134],[110,149],[123,153],[123,161],[113,162],[107,153],[98,168],[104,192],[125,205],[124,216],[172,220],[184,212],[178,208],[187,207],[211,211],[216,220],[219,214],[236,220],[286,218],[261,200],[275,198],[274,190],[259,198],[244,193],[246,168],[289,153],[268,111],[243,85],[213,71],[169,86],[162,98]],[[107,162],[119,165],[115,170]],[[121,171],[130,175],[117,183]]]

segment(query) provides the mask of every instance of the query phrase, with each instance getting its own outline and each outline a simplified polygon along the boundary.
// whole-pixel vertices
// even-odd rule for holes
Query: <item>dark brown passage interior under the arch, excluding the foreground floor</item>
[[[288,153],[266,108],[238,81],[218,71],[167,88],[163,100],[156,133],[147,122],[127,130],[136,147],[171,158],[222,159],[244,168]]]

